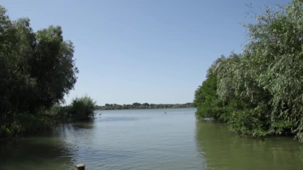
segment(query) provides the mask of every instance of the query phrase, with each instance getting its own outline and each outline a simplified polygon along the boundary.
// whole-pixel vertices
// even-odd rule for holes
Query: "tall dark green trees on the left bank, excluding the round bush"
[[[0,133],[15,136],[51,124],[41,110],[63,102],[76,83],[74,47],[60,26],[33,32],[0,6]],[[43,113],[44,114],[44,113]]]

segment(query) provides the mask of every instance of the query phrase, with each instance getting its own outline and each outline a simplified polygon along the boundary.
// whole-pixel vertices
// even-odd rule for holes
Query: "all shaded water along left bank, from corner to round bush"
[[[94,122],[58,125],[47,133],[0,143],[0,170],[74,170],[79,145],[93,135]]]

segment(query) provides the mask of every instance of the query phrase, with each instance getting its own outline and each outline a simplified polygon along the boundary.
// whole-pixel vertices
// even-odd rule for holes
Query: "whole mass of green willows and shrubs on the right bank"
[[[243,53],[221,56],[195,91],[196,118],[240,135],[294,135],[303,142],[303,1],[265,9],[244,25]]]

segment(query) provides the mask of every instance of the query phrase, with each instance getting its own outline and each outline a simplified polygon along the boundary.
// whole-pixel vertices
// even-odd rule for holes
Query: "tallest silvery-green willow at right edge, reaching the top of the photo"
[[[257,82],[272,96],[271,130],[290,129],[303,141],[303,1],[267,9],[257,19],[247,25],[251,43],[245,55],[257,66]]]

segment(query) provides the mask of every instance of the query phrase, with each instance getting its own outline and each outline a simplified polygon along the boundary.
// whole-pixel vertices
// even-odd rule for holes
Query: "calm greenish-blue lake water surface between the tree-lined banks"
[[[90,123],[0,143],[0,170],[74,170],[80,162],[87,170],[303,169],[303,145],[293,138],[241,138],[194,112],[97,111]]]

